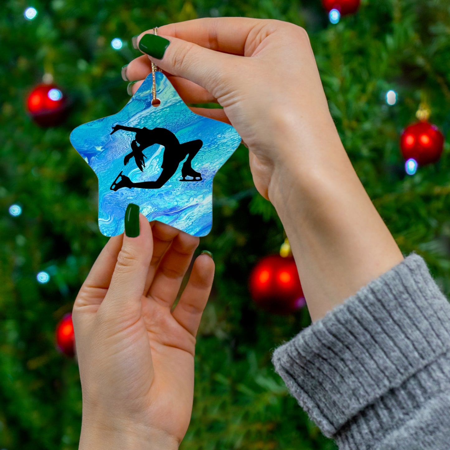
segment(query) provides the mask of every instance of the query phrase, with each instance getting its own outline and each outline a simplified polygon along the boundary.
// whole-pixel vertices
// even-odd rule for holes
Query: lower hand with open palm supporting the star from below
[[[73,306],[83,397],[80,449],[94,448],[96,439],[104,445],[103,437],[178,448],[189,426],[195,336],[214,262],[206,254],[195,260],[172,312],[199,239],[149,224],[142,214],[139,225],[139,236],[108,241]]]

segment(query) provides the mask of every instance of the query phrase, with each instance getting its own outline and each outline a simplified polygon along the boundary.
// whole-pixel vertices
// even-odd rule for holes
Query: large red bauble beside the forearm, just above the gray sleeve
[[[293,257],[264,257],[250,274],[250,293],[257,305],[273,314],[291,314],[305,305]]]

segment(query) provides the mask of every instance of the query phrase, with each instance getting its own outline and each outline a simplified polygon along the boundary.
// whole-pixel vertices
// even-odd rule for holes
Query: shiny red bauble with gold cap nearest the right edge
[[[400,138],[400,148],[405,161],[415,159],[419,166],[437,162],[444,149],[444,135],[436,125],[420,121],[407,126]]]

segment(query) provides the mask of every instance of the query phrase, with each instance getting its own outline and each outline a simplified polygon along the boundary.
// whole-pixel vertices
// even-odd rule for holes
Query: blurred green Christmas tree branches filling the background
[[[24,18],[27,7],[36,18]],[[55,349],[55,327],[107,238],[97,225],[97,178],[69,142],[76,126],[128,101],[121,66],[131,36],[198,17],[275,18],[305,27],[329,107],[369,196],[405,255],[422,255],[450,293],[450,158],[405,174],[401,130],[426,94],[430,121],[450,126],[447,0],[363,1],[333,25],[320,0],[2,1],[0,11],[0,448],[74,450],[81,429],[76,361]],[[123,40],[115,50],[114,38]],[[61,126],[40,128],[25,100],[45,73],[73,103]],[[283,76],[276,67],[274,77]],[[302,79],[298,80],[299,89]],[[386,103],[388,90],[398,101]],[[270,101],[270,95],[267,98]],[[12,204],[23,208],[13,217]],[[216,261],[198,333],[195,397],[181,449],[331,450],[270,362],[310,324],[258,309],[247,289],[261,257],[284,240],[274,208],[254,189],[241,146],[215,177],[213,228],[197,254]],[[45,270],[50,281],[39,284]],[[324,274],[326,276],[326,274]]]

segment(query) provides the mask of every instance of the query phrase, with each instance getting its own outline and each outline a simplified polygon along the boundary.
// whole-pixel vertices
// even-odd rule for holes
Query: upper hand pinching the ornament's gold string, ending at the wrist
[[[141,33],[138,44],[147,33],[153,30]],[[126,77],[143,81],[153,61],[184,102],[223,106],[191,109],[234,126],[266,199],[278,197],[273,191],[289,167],[320,157],[330,140],[342,148],[303,28],[278,20],[201,18],[159,27],[158,36],[170,40],[163,58],[134,59]]]

